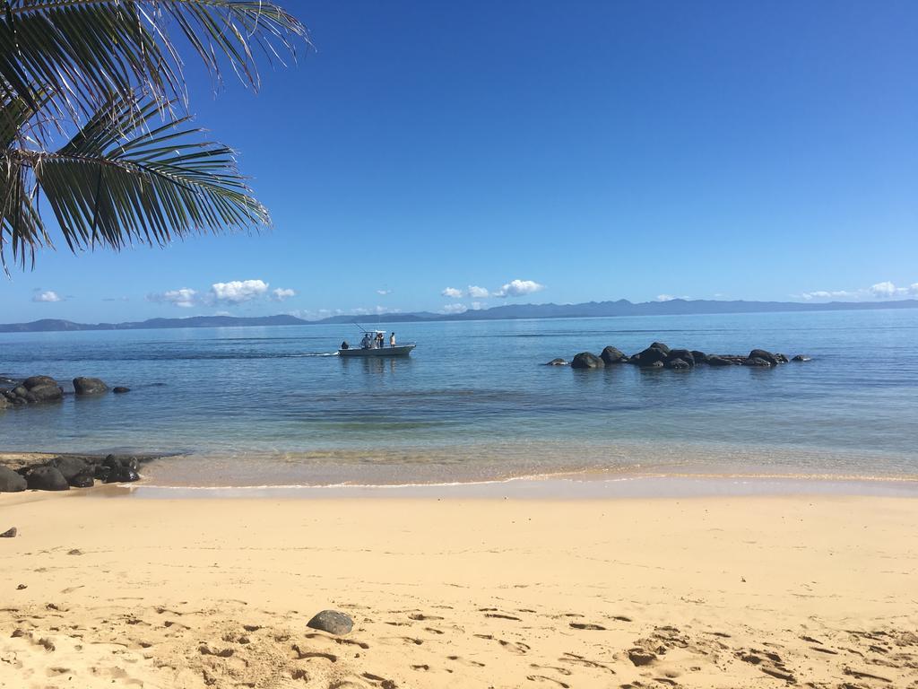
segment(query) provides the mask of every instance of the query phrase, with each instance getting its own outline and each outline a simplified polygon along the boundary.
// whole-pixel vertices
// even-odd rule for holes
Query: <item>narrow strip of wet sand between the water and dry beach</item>
[[[23,470],[47,464],[58,457],[100,461],[104,453],[0,452],[0,466]],[[140,461],[140,480],[131,483],[97,483],[92,488],[67,493],[134,496],[144,499],[259,498],[259,499],[373,499],[411,498],[517,498],[596,500],[708,496],[839,495],[918,498],[918,475],[869,475],[774,471],[717,470],[714,467],[674,466],[642,469],[580,469],[468,480],[414,480],[402,483],[260,482],[245,480],[218,485],[170,482],[170,472],[156,469],[161,459],[188,455],[132,454]],[[150,464],[154,462],[154,464]],[[151,472],[150,469],[153,469]],[[181,472],[180,472],[181,473]],[[280,477],[283,479],[284,477]],[[165,480],[163,480],[165,479]],[[29,491],[33,492],[33,491]],[[14,495],[16,493],[10,493]],[[2,503],[0,503],[2,504]]]

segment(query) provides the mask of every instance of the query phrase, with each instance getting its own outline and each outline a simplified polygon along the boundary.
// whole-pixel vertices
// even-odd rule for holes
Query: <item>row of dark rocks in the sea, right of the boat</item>
[[[809,361],[809,356],[797,355],[793,361]],[[616,364],[633,364],[635,366],[653,370],[655,368],[671,368],[674,370],[688,370],[700,364],[712,367],[722,366],[751,366],[775,367],[778,364],[788,363],[788,357],[783,354],[772,354],[765,349],[753,349],[748,355],[736,354],[705,354],[697,349],[674,349],[662,342],[651,343],[646,349],[627,356],[613,346],[605,347],[599,356],[592,352],[580,352],[571,359],[571,368],[604,368]],[[564,359],[553,359],[549,366],[564,366]]]

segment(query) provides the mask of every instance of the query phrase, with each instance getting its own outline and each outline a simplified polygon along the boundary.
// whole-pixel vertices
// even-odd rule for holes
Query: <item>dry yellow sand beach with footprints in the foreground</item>
[[[4,687],[918,686],[914,500],[74,491],[12,525]]]

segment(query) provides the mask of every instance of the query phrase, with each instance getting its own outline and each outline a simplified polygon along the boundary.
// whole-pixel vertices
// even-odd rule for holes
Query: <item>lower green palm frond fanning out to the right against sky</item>
[[[188,118],[162,124],[161,117],[156,99],[116,94],[58,151],[13,146],[0,153],[0,251],[8,243],[24,264],[27,253],[48,243],[38,190],[74,252],[270,223],[229,148],[201,141]]]

